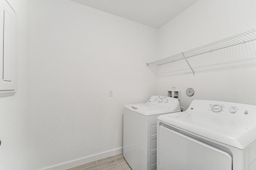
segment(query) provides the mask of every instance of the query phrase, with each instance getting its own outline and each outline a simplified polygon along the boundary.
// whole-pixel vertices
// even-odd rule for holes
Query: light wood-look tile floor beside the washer
[[[67,170],[132,170],[125,161],[123,154],[116,154],[87,164],[82,164]]]

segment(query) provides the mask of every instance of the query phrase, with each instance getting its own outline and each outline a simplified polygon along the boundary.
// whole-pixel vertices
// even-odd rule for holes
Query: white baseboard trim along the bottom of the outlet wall
[[[63,164],[50,166],[48,168],[44,168],[44,169],[41,169],[41,170],[65,170],[65,169],[68,169],[68,168],[72,168],[74,166],[86,164],[88,162],[92,162],[94,160],[106,158],[108,156],[112,156],[112,155],[119,154],[119,153],[122,153],[122,152],[123,152],[123,148],[113,149],[113,150],[109,150],[109,151],[102,152],[102,153],[99,153],[99,154],[94,154],[94,155],[91,155],[91,156],[87,156],[87,157],[84,157],[84,158],[81,158],[81,159],[72,160],[70,162],[65,162]]]

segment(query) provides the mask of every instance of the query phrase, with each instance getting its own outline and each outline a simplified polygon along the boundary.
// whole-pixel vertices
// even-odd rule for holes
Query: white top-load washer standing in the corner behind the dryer
[[[156,118],[175,111],[179,101],[164,96],[124,106],[123,155],[132,170],[156,170]]]

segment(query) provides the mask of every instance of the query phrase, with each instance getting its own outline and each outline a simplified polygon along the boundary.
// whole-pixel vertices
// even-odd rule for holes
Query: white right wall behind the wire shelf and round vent
[[[199,0],[158,31],[159,58],[206,45],[256,28],[255,0]],[[181,90],[180,106],[194,99],[256,105],[256,42],[214,51],[158,67],[159,95],[171,87]],[[192,87],[195,94],[186,96]]]

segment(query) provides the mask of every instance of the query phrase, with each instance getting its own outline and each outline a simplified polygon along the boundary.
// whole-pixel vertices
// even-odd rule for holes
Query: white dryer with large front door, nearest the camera
[[[194,100],[157,123],[158,170],[256,170],[256,106]]]

